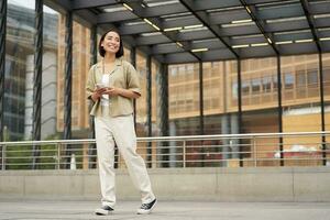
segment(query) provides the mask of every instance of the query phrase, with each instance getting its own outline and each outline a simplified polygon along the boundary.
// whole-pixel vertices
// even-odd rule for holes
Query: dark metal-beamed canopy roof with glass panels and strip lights
[[[91,25],[118,28],[128,45],[165,64],[330,52],[328,1],[58,0],[56,4]],[[204,28],[188,29],[197,24]],[[182,30],[167,31],[172,28]],[[193,51],[200,47],[208,51]]]

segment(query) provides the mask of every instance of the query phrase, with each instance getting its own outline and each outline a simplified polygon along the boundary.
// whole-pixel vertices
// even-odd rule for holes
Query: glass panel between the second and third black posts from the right
[[[242,133],[276,133],[278,128],[278,84],[276,58],[244,59],[241,62],[241,96],[242,96]],[[257,158],[260,166],[274,165],[267,160],[273,158],[270,152],[278,151],[277,139],[257,139],[253,143],[257,147],[256,155],[251,140],[242,140],[245,144],[240,148],[241,156],[246,158],[245,165],[251,165],[250,158]]]

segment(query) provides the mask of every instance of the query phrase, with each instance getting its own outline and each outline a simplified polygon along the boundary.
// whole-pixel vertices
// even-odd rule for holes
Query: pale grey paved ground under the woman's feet
[[[135,215],[139,201],[118,201],[112,216],[94,215],[97,201],[0,200],[1,220],[329,220],[329,202],[158,201],[154,212]]]

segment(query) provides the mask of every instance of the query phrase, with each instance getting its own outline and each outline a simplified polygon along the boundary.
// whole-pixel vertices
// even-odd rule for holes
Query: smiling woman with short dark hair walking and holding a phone
[[[143,158],[136,154],[136,134],[132,100],[141,96],[134,67],[123,61],[123,45],[118,31],[110,30],[99,42],[102,61],[88,74],[87,97],[94,101],[101,208],[96,215],[110,215],[116,205],[114,143],[125,161],[133,184],[141,193],[138,213],[150,213],[156,205]]]

